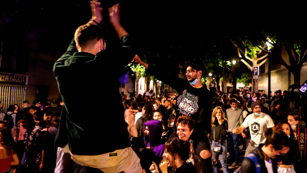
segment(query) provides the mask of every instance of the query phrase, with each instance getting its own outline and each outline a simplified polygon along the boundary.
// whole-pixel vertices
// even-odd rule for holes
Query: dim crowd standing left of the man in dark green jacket
[[[55,172],[59,151],[54,139],[63,102],[47,98],[30,106],[25,100],[21,107],[12,104],[3,112],[0,103],[0,172]]]

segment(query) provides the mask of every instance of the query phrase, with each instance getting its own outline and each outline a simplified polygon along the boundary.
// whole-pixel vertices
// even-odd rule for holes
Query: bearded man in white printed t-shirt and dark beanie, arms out
[[[275,129],[274,122],[271,117],[261,112],[261,105],[258,102],[251,103],[253,114],[248,115],[242,125],[233,130],[233,134],[240,134],[245,128],[250,128],[251,141],[245,150],[245,156],[251,153],[260,143],[264,143],[266,137],[264,133],[267,128]]]

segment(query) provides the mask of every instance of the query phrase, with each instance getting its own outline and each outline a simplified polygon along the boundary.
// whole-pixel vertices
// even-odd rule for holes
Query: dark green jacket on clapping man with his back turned
[[[96,56],[78,52],[72,40],[54,64],[64,102],[56,147],[69,144],[72,154],[101,155],[131,146],[118,89],[119,72],[136,54],[129,37],[122,37],[115,53],[102,50]]]

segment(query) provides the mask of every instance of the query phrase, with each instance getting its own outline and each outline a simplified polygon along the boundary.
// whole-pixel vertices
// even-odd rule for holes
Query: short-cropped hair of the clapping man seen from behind
[[[78,46],[90,49],[102,38],[105,39],[105,30],[93,24],[81,25],[75,32],[75,42]]]

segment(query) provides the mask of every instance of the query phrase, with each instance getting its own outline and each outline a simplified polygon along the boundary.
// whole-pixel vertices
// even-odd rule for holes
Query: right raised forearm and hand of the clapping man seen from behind
[[[120,24],[120,5],[115,4],[111,8],[109,8],[109,18],[110,22],[115,29],[119,39],[124,35],[128,35],[128,32],[122,27]]]

